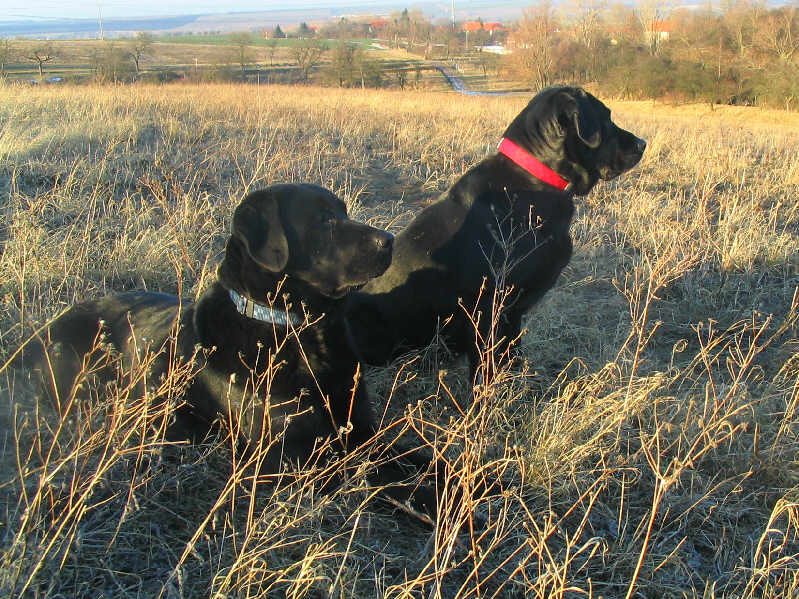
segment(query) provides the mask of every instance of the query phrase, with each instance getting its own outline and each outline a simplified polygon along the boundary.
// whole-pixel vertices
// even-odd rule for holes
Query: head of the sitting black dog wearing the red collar
[[[579,87],[541,91],[504,137],[568,179],[578,195],[631,169],[646,149],[646,141],[616,126],[608,107]]]

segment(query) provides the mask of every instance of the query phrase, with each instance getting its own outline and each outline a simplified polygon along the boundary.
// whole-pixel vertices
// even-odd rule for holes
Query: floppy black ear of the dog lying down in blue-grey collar
[[[269,190],[248,195],[233,213],[231,234],[241,240],[257,264],[278,272],[289,260],[289,245],[280,219],[278,194]]]

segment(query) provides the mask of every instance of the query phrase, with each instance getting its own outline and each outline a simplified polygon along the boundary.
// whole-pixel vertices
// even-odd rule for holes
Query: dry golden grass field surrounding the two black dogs
[[[797,596],[795,115],[609,102],[649,147],[577,200],[574,258],[519,359],[473,401],[442,347],[368,369],[377,414],[442,451],[453,484],[498,481],[443,501],[435,527],[375,498],[368,460],[321,494],[335,462],[274,487],[225,439],[164,442],[142,372],[61,421],[11,363],[76,300],[194,297],[234,206],[270,183],[327,186],[401,229],[525,101],[0,87],[0,594]]]

